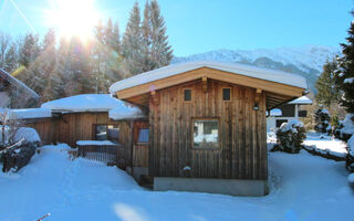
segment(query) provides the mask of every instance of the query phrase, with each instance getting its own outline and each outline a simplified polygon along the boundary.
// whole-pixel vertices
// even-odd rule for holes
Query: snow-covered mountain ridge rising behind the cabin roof
[[[298,73],[308,78],[310,88],[322,72],[323,64],[340,53],[339,48],[305,45],[299,48],[258,50],[216,50],[184,57],[174,57],[173,63],[186,61],[219,61],[251,64],[261,67]]]

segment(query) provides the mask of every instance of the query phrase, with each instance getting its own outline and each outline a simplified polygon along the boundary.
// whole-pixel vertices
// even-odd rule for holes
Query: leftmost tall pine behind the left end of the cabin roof
[[[143,70],[143,34],[140,30],[140,9],[136,1],[131,11],[129,20],[122,41],[122,55],[126,76],[140,74]]]

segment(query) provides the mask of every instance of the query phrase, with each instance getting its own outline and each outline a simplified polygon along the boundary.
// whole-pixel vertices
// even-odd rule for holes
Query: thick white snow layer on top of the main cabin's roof
[[[114,83],[110,87],[110,93],[115,94],[118,91],[134,87],[137,85],[146,84],[157,80],[174,76],[188,71],[197,70],[200,67],[209,67],[215,70],[220,70],[229,73],[235,73],[239,75],[250,76],[254,78],[277,82],[281,84],[287,84],[291,86],[296,86],[301,88],[308,88],[306,80],[303,76],[296,74],[290,74],[282,71],[274,71],[268,69],[261,69],[256,66],[250,66],[246,64],[238,63],[223,63],[214,61],[197,61],[197,62],[186,62],[179,64],[171,64],[157,70],[145,72],[129,78],[122,80]]]

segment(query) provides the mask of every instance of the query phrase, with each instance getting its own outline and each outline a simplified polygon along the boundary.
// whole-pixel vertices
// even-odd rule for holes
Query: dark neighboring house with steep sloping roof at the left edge
[[[0,108],[34,107],[38,102],[35,92],[0,69]]]

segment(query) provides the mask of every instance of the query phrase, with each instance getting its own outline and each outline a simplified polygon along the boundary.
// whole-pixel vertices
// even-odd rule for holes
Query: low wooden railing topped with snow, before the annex
[[[118,162],[118,144],[113,143],[105,145],[100,144],[100,141],[96,141],[96,144],[77,143],[77,157],[116,165]]]

